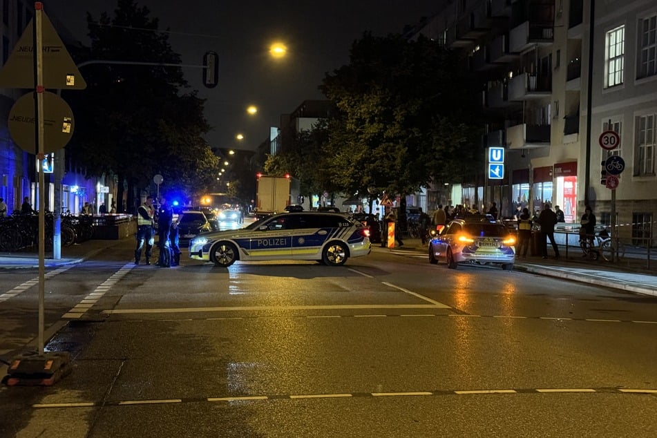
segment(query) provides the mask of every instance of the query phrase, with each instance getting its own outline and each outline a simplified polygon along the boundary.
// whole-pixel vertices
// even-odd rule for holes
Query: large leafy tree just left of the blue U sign
[[[468,178],[483,158],[470,84],[455,53],[436,41],[365,33],[350,64],[321,86],[339,109],[325,151],[332,180],[345,193],[374,184],[406,194],[432,178]]]

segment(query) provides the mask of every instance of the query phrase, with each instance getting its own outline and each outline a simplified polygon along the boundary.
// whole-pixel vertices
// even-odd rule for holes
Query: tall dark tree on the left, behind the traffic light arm
[[[67,153],[88,175],[118,175],[120,189],[124,181],[128,186],[128,205],[156,173],[188,196],[204,191],[218,173],[218,158],[202,138],[209,131],[204,101],[187,91],[182,70],[138,64],[180,64],[149,15],[134,0],[118,0],[112,19],[106,12],[97,20],[88,14],[91,46],[73,55],[100,63],[84,67],[88,88],[67,96],[77,115]]]

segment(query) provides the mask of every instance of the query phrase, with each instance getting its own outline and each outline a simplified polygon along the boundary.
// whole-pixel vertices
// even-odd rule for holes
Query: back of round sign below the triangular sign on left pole
[[[23,95],[9,111],[9,133],[23,151],[37,153],[35,139],[34,92]],[[44,93],[44,153],[53,153],[66,146],[73,135],[73,111],[55,93]]]

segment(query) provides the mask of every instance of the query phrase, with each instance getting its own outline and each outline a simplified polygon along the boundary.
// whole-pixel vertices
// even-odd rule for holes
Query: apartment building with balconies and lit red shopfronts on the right
[[[588,202],[602,223],[610,224],[615,211],[619,236],[645,244],[657,210],[657,3],[444,0],[442,6],[412,37],[425,35],[463,54],[479,81],[473,86],[482,88],[484,146],[505,151],[504,178],[484,175],[484,186],[462,188],[461,199],[474,196],[479,208],[495,200],[506,216],[550,202],[566,222],[578,222]],[[598,144],[608,130],[621,139],[610,151]],[[610,155],[625,162],[613,206],[612,189],[601,182],[601,163]]]

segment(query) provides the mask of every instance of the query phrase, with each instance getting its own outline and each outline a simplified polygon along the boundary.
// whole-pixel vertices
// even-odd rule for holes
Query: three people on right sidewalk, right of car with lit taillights
[[[534,223],[540,225],[540,251],[542,258],[548,257],[547,241],[550,240],[552,249],[554,251],[554,258],[559,258],[559,247],[554,240],[554,227],[559,222],[565,222],[564,213],[556,205],[553,210],[548,202],[543,205],[543,210],[538,217],[531,216],[529,209],[526,207],[522,209],[520,215],[517,216],[518,225],[518,245],[516,254],[518,256],[526,257],[527,249],[529,248],[532,238],[532,228]],[[589,205],[584,207],[584,214],[580,220],[580,244],[582,242],[593,241],[593,236],[596,232],[596,215]],[[584,256],[586,254],[583,254]]]

